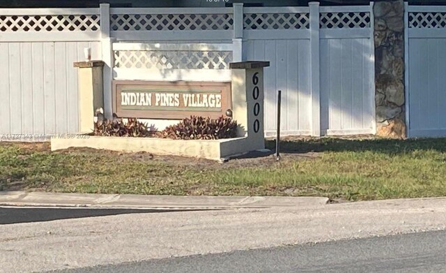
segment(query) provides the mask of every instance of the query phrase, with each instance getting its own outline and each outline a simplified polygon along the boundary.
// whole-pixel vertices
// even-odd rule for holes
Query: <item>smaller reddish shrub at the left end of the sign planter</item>
[[[144,138],[152,134],[146,124],[137,119],[128,119],[128,122],[119,119],[95,122],[94,135]]]

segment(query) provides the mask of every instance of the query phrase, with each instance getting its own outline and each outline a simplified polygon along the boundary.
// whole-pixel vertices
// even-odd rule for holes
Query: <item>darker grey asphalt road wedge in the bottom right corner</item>
[[[80,272],[446,272],[446,231],[353,239],[305,246],[234,251],[139,263],[86,267]]]

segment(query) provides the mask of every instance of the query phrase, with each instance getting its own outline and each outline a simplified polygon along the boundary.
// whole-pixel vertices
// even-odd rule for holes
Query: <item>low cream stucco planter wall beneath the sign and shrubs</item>
[[[170,140],[164,138],[119,138],[89,136],[86,138],[52,138],[51,150],[70,147],[89,147],[108,149],[118,152],[149,152],[158,155],[190,156],[221,161],[236,154],[243,154],[259,149],[255,142],[247,138],[225,140]]]

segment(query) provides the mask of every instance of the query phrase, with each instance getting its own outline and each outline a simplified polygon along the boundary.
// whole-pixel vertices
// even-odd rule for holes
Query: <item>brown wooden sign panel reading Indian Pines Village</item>
[[[113,112],[118,117],[216,118],[231,109],[231,82],[115,80],[113,95]]]

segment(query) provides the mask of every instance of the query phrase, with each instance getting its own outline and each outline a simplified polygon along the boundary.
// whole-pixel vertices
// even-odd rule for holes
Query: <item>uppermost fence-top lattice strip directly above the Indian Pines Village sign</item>
[[[144,30],[228,30],[233,29],[232,14],[114,14],[114,31]]]

